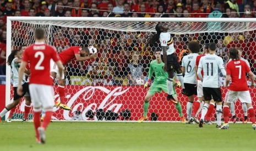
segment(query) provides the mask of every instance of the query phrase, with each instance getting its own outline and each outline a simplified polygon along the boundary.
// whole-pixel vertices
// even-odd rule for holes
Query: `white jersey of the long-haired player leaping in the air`
[[[175,48],[174,48],[174,45],[173,45],[173,39],[171,37],[171,33],[168,33],[168,32],[161,32],[160,33],[160,43],[161,43],[161,46],[163,47],[167,47],[166,48],[166,53],[167,55],[171,55],[175,52]],[[161,52],[161,55],[163,53]]]

